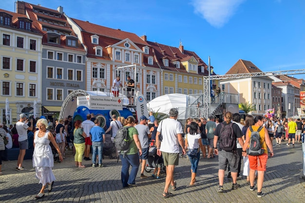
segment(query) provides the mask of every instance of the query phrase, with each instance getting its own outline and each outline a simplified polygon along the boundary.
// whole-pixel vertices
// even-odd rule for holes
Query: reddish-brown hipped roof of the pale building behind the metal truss
[[[239,59],[226,74],[246,74],[262,72],[251,61]]]

